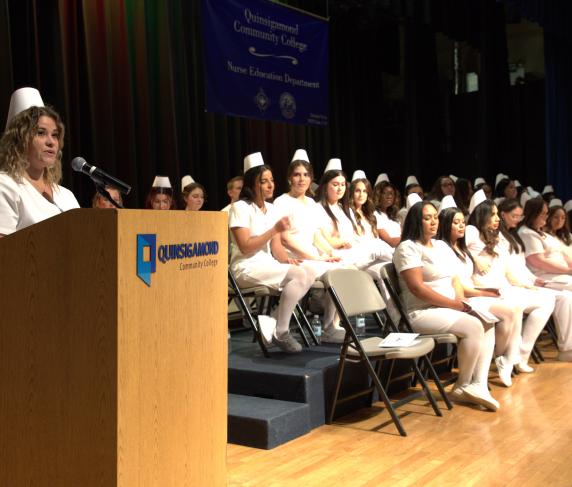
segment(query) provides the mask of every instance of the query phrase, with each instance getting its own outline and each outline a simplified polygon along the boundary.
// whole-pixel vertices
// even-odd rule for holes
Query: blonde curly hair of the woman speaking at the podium
[[[14,181],[20,183],[26,169],[28,147],[38,130],[40,117],[50,117],[58,128],[58,154],[52,167],[44,170],[44,181],[50,186],[62,180],[62,149],[64,147],[65,127],[59,114],[51,107],[30,107],[16,115],[8,124],[0,139],[0,171],[6,172]]]

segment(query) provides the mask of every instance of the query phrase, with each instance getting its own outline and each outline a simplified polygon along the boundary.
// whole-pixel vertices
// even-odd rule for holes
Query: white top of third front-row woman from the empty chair
[[[494,256],[487,253],[485,251],[485,243],[481,240],[479,235],[479,230],[473,225],[467,225],[465,228],[465,242],[471,255],[489,266],[489,271],[486,274],[481,275],[475,273],[473,275],[475,284],[493,288],[506,288],[510,286],[506,277],[509,254],[505,248],[497,244],[494,251],[498,255]]]

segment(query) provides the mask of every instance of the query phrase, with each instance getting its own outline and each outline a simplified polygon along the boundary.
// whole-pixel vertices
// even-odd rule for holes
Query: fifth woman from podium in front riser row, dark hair
[[[401,224],[397,221],[399,207],[396,204],[396,188],[389,181],[382,181],[370,192],[375,207],[374,216],[379,238],[396,247],[401,241]]]

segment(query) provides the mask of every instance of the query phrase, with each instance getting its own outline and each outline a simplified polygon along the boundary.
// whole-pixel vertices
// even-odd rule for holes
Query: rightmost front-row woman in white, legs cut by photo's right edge
[[[524,207],[524,220],[518,229],[525,248],[526,264],[532,273],[544,281],[556,280],[566,288],[572,287],[572,260],[563,244],[542,231],[548,208],[541,198],[532,198]],[[549,285],[549,283],[545,283]],[[558,331],[558,359],[572,362],[572,293],[563,291],[556,297],[554,321]]]

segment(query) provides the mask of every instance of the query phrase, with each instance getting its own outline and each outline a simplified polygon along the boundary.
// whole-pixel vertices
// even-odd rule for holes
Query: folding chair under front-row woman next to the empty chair
[[[403,306],[403,302],[400,298],[400,287],[399,287],[399,279],[397,277],[397,271],[393,264],[387,264],[383,269],[381,269],[381,279],[383,284],[385,285],[387,292],[389,294],[389,299],[393,302],[393,305],[399,312],[400,316],[400,323],[398,326],[402,324],[405,328],[405,331],[412,332],[413,328],[411,326],[411,322],[409,321],[409,315],[405,311],[405,307]],[[386,296],[383,296],[384,299],[387,299]],[[385,303],[388,305],[388,302]],[[457,337],[452,333],[432,333],[432,334],[423,334],[422,336],[427,338],[433,338],[435,340],[435,345],[450,345],[452,348],[451,353],[445,355],[444,357],[434,359],[435,349],[431,351],[429,355],[429,360],[433,367],[436,365],[446,364],[448,368],[451,368],[456,357],[457,357]],[[443,384],[449,385],[452,384],[457,380],[456,375],[451,376],[449,379],[443,381]]]

